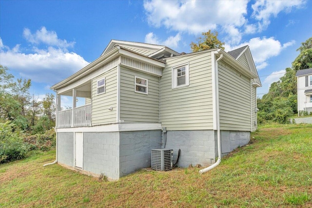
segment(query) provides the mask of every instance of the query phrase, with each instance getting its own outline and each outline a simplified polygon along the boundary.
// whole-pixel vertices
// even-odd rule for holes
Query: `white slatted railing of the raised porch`
[[[74,113],[73,109],[59,111],[57,120],[58,128],[91,126],[91,104],[75,108]]]

